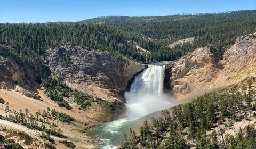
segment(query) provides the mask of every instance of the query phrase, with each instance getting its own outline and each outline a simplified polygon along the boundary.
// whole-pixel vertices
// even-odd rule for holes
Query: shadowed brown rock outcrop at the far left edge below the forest
[[[41,81],[42,65],[31,61],[18,65],[0,56],[0,89],[14,89],[23,95],[39,99],[36,87]]]

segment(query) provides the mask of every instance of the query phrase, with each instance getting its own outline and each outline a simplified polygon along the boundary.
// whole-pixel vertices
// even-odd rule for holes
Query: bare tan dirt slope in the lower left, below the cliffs
[[[77,147],[86,147],[86,148],[93,148],[93,143],[90,141],[90,138],[86,136],[86,131],[87,129],[90,129],[92,126],[96,125],[98,123],[98,119],[103,119],[107,120],[106,118],[108,117],[107,114],[102,113],[102,117],[100,117],[101,110],[103,110],[102,107],[97,106],[97,104],[93,103],[90,107],[88,107],[87,111],[79,110],[78,108],[73,108],[72,110],[67,110],[65,108],[61,108],[58,106],[57,103],[53,102],[50,98],[45,96],[43,94],[43,90],[38,89],[38,94],[41,96],[41,100],[35,100],[33,98],[26,97],[24,95],[21,95],[18,92],[15,92],[15,90],[4,90],[0,89],[0,97],[4,99],[5,104],[0,104],[0,115],[1,115],[1,120],[0,120],[0,125],[6,127],[6,129],[13,129],[15,131],[25,131],[27,135],[37,139],[32,139],[31,142],[30,140],[27,140],[26,137],[20,136],[19,140],[21,142],[29,142],[30,146],[28,147],[28,144],[22,144],[25,148],[31,148],[35,147],[35,144],[41,144],[43,142],[47,142],[45,139],[41,137],[42,133],[45,133],[43,131],[39,131],[37,129],[31,128],[29,126],[23,126],[21,123],[17,121],[7,121],[6,115],[15,115],[18,112],[14,111],[19,111],[23,112],[25,114],[25,109],[28,109],[29,114],[29,120],[28,122],[32,121],[34,118],[35,123],[37,125],[42,126],[42,124],[45,125],[46,128],[53,128],[53,129],[60,129],[61,133],[65,136],[68,136],[68,138],[65,138],[69,141],[72,141],[76,144]],[[9,109],[6,110],[6,105],[7,103],[9,104]],[[101,103],[99,103],[101,104]],[[62,112],[62,113],[67,113],[69,115],[72,115],[72,117],[75,118],[74,122],[71,123],[66,123],[66,122],[61,122],[58,119],[50,117],[51,111],[47,109],[55,109],[56,111]],[[94,109],[94,110],[91,110]],[[47,116],[43,116],[43,111],[47,111]],[[35,119],[36,113],[39,113],[39,121]],[[104,111],[106,112],[106,111]],[[18,114],[19,115],[19,114]],[[33,116],[35,115],[35,116]],[[26,116],[27,117],[27,116]],[[40,119],[43,119],[44,121],[47,121],[47,123],[43,123],[40,121]],[[55,123],[56,127],[54,127],[53,124]],[[5,134],[5,130],[0,129],[0,134]],[[6,136],[6,138],[10,137],[15,137],[17,135],[9,135]],[[63,148],[58,147],[60,143],[58,143],[58,140],[64,140],[63,138],[60,138],[58,136],[50,135],[51,138],[55,140],[55,144],[57,145],[57,148]],[[34,144],[34,143],[35,144]],[[41,142],[41,143],[40,143]],[[42,147],[42,148],[49,148],[49,147]]]

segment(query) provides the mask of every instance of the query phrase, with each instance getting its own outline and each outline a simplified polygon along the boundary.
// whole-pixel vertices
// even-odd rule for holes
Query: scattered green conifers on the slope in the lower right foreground
[[[255,148],[254,123],[240,127],[236,136],[224,135],[225,127],[256,117],[252,82],[255,78],[162,111],[162,117],[145,120],[138,135],[131,129],[130,136],[124,134],[122,148]]]

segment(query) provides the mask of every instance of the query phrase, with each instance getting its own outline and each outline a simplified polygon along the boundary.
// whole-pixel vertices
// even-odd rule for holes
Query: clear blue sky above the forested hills
[[[107,15],[160,16],[256,9],[256,0],[0,0],[0,22],[81,21]]]

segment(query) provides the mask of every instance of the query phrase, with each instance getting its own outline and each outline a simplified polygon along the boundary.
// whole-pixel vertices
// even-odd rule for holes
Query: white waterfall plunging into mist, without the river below
[[[128,117],[140,118],[171,106],[163,93],[164,72],[164,65],[149,65],[135,77],[130,92],[125,93]]]

